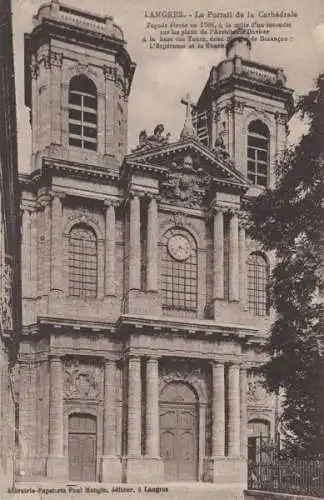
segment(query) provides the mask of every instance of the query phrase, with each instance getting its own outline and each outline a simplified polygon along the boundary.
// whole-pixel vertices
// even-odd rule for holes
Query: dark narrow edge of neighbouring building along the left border
[[[21,330],[20,220],[15,85],[10,2],[0,2],[0,497],[13,484],[15,464],[14,364]]]

